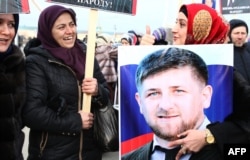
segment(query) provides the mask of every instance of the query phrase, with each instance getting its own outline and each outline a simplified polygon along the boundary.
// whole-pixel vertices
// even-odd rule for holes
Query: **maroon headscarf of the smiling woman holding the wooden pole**
[[[62,60],[63,63],[71,67],[75,71],[77,79],[81,80],[85,69],[85,54],[83,53],[81,43],[76,40],[75,45],[68,49],[61,47],[52,36],[52,27],[55,21],[65,12],[68,12],[71,15],[76,24],[76,14],[70,8],[53,5],[44,9],[38,20],[37,38],[41,41],[43,47],[54,57]]]

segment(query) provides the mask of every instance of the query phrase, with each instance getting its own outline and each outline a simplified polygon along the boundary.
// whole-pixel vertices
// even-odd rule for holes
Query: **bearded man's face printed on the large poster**
[[[211,86],[206,86],[190,66],[185,66],[147,77],[136,93],[136,100],[154,133],[173,140],[178,133],[202,123],[203,109],[209,107],[211,95]]]

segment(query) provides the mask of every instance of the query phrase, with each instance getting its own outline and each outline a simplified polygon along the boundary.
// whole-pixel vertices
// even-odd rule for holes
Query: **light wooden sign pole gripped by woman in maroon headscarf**
[[[90,9],[85,78],[93,77],[97,18],[98,18],[97,9]],[[91,98],[92,98],[91,95],[87,95],[86,93],[83,94],[83,101],[82,101],[83,111],[90,112]]]

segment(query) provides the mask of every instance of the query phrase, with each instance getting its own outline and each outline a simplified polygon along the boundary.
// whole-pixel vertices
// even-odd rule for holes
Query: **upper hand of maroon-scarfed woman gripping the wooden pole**
[[[85,78],[82,81],[82,92],[92,96],[97,96],[98,95],[97,80],[95,78]]]

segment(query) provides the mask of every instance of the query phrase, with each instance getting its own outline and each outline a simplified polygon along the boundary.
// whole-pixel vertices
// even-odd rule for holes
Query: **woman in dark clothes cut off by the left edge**
[[[18,24],[18,14],[0,14],[0,155],[7,160],[23,159],[24,56],[13,43]]]

